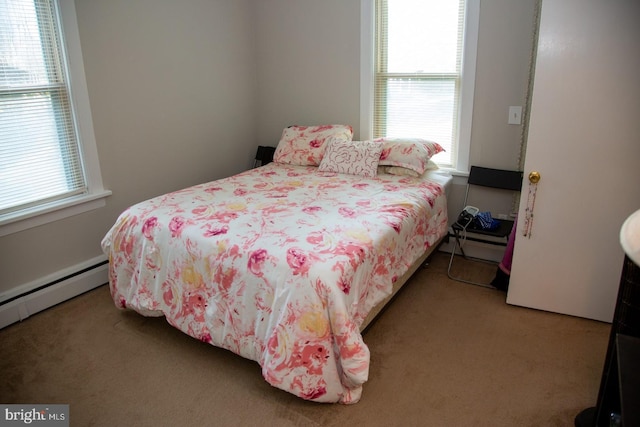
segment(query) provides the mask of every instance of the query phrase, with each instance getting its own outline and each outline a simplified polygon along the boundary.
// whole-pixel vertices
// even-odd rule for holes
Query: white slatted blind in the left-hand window
[[[0,0],[0,216],[87,192],[53,0]]]

